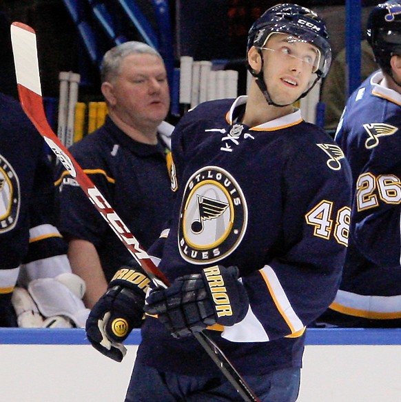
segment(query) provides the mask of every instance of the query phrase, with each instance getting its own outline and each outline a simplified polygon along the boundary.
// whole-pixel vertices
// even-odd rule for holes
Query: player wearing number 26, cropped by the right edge
[[[351,94],[336,132],[353,208],[340,290],[319,321],[401,327],[401,3],[373,8],[367,39],[380,70]]]

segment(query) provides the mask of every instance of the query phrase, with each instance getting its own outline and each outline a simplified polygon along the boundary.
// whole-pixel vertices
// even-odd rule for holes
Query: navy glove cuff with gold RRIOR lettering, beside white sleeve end
[[[216,312],[216,323],[231,326],[243,320],[249,307],[247,292],[238,281],[237,267],[214,265],[202,271]]]

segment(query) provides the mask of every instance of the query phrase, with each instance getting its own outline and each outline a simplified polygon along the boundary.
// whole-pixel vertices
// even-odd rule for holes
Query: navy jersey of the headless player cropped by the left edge
[[[29,279],[68,272],[54,226],[52,165],[45,142],[19,103],[0,94],[0,292],[12,292],[25,263]]]

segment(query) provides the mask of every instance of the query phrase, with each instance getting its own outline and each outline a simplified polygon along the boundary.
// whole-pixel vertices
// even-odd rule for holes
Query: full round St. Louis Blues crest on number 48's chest
[[[195,264],[220,261],[240,243],[247,228],[247,204],[236,180],[216,166],[188,180],[181,207],[178,248]]]

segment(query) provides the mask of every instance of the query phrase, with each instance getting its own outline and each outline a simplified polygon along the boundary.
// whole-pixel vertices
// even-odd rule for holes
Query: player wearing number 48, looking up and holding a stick
[[[269,8],[249,31],[248,95],[202,103],[176,126],[172,219],[150,249],[172,285],[148,290],[125,401],[242,400],[192,336],[201,330],[260,401],[296,400],[305,328],[333,301],[348,240],[347,161],[293,106],[330,60],[315,12]],[[117,361],[128,332],[116,320],[142,322],[139,270],[118,272],[87,321]]]

